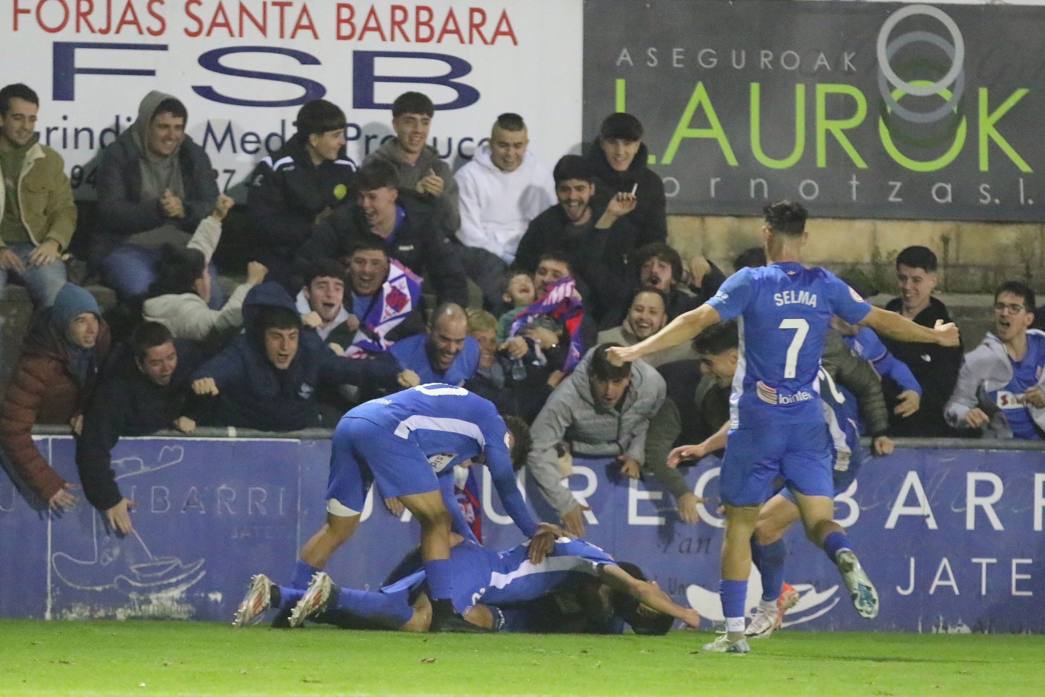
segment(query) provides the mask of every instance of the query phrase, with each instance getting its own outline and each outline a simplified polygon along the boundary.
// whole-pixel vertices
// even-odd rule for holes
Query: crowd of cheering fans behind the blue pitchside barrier
[[[75,503],[32,443],[37,423],[72,426],[86,497],[130,529],[110,469],[121,436],[332,427],[354,403],[440,381],[532,423],[527,467],[571,532],[584,527],[564,486],[574,457],[660,480],[680,517],[697,519],[675,466],[721,447],[738,335],[726,325],[623,368],[606,358],[608,345],[654,334],[725,278],[667,243],[664,185],[634,116],[608,116],[584,156],[550,168],[529,152],[522,117],[502,114],[454,173],[427,144],[425,95],[395,100],[395,136],[361,166],[345,153],[344,112],[318,99],[233,208],[185,135],[184,104],[150,92],[101,152],[97,219],[78,228],[93,273],[136,318],[113,336],[94,297],[67,282],[77,209],[61,156],[36,135],[38,110],[28,87],[0,90],[0,293],[19,282],[37,310],[0,411],[0,450],[27,494]],[[252,260],[226,295],[233,284],[212,257],[230,216],[250,231]],[[765,263],[760,249],[736,260]],[[951,321],[932,296],[930,250],[903,250],[896,272],[888,309]],[[1005,283],[993,311],[993,333],[965,358],[836,321],[825,365],[856,395],[876,449],[886,436],[1042,438],[1035,294]]]

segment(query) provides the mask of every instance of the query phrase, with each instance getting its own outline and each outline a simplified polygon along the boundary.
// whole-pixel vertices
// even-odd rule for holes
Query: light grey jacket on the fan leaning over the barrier
[[[660,409],[667,394],[664,378],[653,368],[636,361],[631,364],[631,385],[621,410],[605,410],[595,403],[588,369],[595,349],[549,397],[530,431],[533,448],[527,468],[544,498],[560,514],[576,505],[563,486],[556,460],[556,444],[565,441],[572,452],[584,457],[612,458],[626,455],[640,465],[646,461],[646,432],[650,418]]]

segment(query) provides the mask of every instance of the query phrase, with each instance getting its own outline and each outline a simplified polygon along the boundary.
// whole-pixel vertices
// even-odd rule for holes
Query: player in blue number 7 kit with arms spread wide
[[[720,597],[726,633],[704,648],[746,653],[744,602],[751,567],[750,538],[759,510],[782,480],[794,494],[806,533],[842,574],[861,615],[878,614],[878,594],[834,520],[831,444],[823,420],[818,371],[833,316],[899,341],[958,345],[953,324],[922,327],[873,307],[831,272],[799,262],[808,240],[806,209],[784,201],[765,208],[770,265],[742,269],[706,303],[629,347],[612,348],[623,364],[691,341],[704,328],[737,318],[741,363],[730,395],[730,432],[721,470],[725,505]]]

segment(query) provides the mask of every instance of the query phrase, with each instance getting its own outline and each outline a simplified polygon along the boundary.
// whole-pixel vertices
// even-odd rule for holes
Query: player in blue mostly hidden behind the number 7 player
[[[720,386],[733,384],[737,372],[739,345],[736,322],[717,324],[693,340],[693,349],[700,358],[701,372],[715,378]],[[874,452],[892,452],[892,441],[884,434],[888,412],[879,377],[870,364],[854,355],[836,334],[828,340],[819,371],[819,399],[831,436],[835,495],[849,489],[863,464],[859,422],[866,424],[874,438]],[[859,408],[859,411],[858,411]],[[729,422],[702,443],[681,445],[668,457],[668,466],[676,467],[682,460],[702,458],[726,446]],[[748,637],[764,638],[780,628],[784,613],[794,607],[798,594],[784,583],[784,562],[787,547],[784,533],[799,519],[794,494],[786,487],[770,498],[759,512],[751,537],[751,558],[762,576],[762,602],[745,631]]]

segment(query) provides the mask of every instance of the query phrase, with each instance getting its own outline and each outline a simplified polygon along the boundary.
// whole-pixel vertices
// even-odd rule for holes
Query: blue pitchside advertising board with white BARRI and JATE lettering
[[[40,439],[75,481],[68,437]],[[229,621],[252,574],[286,582],[297,551],[323,524],[329,441],[142,438],[121,440],[113,464],[137,502],[135,532],[115,537],[85,503],[62,516],[30,508],[0,482],[0,615]],[[701,522],[682,524],[655,482],[621,479],[612,463],[576,459],[570,486],[591,508],[586,539],[638,564],[709,623],[718,599],[722,520],[718,466],[686,471],[704,498]],[[483,536],[490,549],[521,541],[484,472]],[[528,490],[538,514],[552,511]],[[1045,632],[1045,452],[898,450],[868,461],[839,496],[881,597],[873,622],[853,609],[826,555],[790,530],[786,580],[800,594],[785,627],[921,632]],[[327,571],[375,588],[416,545],[419,527],[371,493],[353,539]],[[752,567],[748,607],[761,595]],[[711,624],[707,625],[712,626]]]

